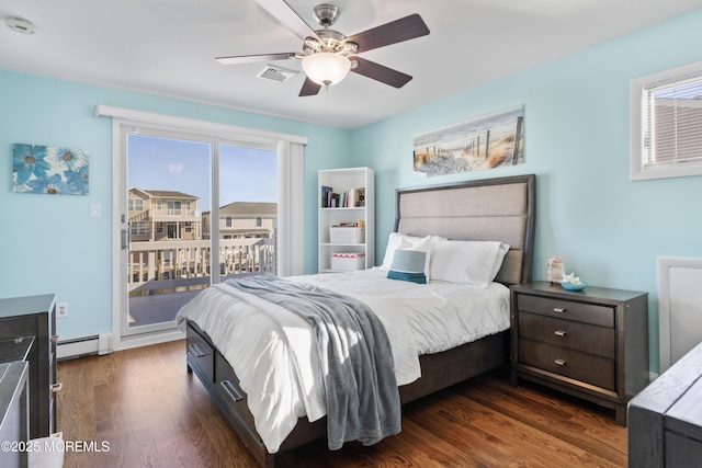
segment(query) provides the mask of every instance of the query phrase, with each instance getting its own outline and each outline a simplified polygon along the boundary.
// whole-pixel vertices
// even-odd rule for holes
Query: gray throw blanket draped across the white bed
[[[312,326],[325,376],[330,449],[349,441],[371,445],[400,432],[389,339],[369,306],[332,290],[271,275],[226,283],[278,304]]]

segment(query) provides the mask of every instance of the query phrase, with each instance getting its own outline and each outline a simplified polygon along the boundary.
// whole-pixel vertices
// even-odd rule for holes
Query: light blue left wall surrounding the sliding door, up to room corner
[[[346,165],[347,130],[0,70],[0,297],[56,293],[65,339],[111,331],[112,124],[93,118],[98,103],[306,136],[305,271],[317,270],[317,170]],[[90,194],[12,193],[14,142],[88,150]]]

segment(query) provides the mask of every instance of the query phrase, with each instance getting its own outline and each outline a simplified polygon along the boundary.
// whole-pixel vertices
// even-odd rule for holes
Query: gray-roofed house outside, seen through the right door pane
[[[204,239],[210,239],[211,217],[211,212],[202,215]],[[220,239],[272,238],[276,226],[276,203],[234,202],[219,208]]]

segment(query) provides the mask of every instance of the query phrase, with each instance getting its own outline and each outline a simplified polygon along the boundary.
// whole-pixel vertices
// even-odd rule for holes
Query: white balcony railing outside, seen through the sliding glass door
[[[131,242],[129,293],[204,288],[210,285],[212,259],[207,240]],[[275,239],[222,239],[215,262],[222,279],[275,274]]]

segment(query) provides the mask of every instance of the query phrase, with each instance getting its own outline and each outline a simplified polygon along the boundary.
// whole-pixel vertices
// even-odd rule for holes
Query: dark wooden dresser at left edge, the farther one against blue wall
[[[34,336],[30,364],[30,438],[56,432],[56,296],[0,299],[0,340]]]

